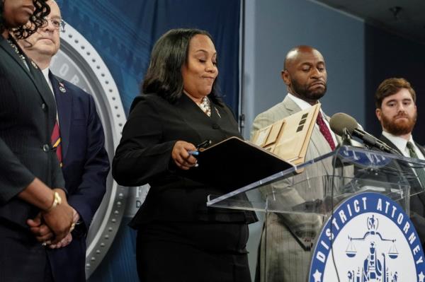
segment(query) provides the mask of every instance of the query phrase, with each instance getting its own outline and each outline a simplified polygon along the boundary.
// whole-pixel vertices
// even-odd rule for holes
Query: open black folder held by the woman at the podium
[[[224,189],[239,189],[293,165],[265,149],[237,137],[231,137],[206,149],[200,149],[198,167],[187,177]]]

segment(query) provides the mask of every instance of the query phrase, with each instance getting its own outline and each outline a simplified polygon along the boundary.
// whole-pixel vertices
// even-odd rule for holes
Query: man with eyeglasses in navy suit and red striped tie
[[[62,166],[75,228],[61,242],[52,245],[53,233],[40,216],[29,220],[28,225],[48,249],[55,281],[86,281],[86,234],[106,192],[109,159],[94,99],[49,69],[52,57],[60,48],[64,21],[57,3],[53,0],[46,3],[51,11],[45,25],[18,43],[40,67],[56,100],[57,124],[52,132],[52,146]]]

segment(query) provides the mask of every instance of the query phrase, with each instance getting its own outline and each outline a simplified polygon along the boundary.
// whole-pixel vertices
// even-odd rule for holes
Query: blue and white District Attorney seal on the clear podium
[[[424,282],[424,251],[409,216],[382,194],[346,199],[322,228],[309,281]]]

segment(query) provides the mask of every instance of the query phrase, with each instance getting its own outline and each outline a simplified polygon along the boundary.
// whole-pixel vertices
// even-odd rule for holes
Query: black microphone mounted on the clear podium
[[[344,112],[337,112],[334,114],[329,121],[329,126],[331,127],[332,131],[334,131],[339,136],[344,136],[346,131],[348,131],[348,134],[358,137],[366,146],[370,148],[378,148],[380,151],[399,155],[399,153],[388,146],[387,143],[380,141],[372,134],[368,134],[368,132],[361,129],[356,119],[349,116],[348,114],[344,114]]]

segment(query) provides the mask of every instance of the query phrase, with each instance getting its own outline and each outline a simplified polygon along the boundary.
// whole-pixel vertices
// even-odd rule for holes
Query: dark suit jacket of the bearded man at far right
[[[390,146],[391,148],[394,148],[395,150],[397,150],[400,154],[402,154],[402,152],[399,151],[397,146],[395,146],[394,143],[392,143],[389,139],[387,139],[387,137],[381,135],[379,139],[387,143],[387,145]],[[425,155],[424,147],[420,146],[416,142],[415,142],[415,145],[419,148],[421,153]],[[411,168],[407,168],[407,169],[411,169]],[[412,171],[412,175],[414,175],[413,171]],[[421,187],[421,184],[417,181],[416,178],[409,180],[409,184],[412,190],[417,189],[417,187]],[[419,193],[410,197],[410,219],[412,220],[414,228],[416,229],[416,232],[419,235],[419,239],[421,240],[422,245],[425,245],[425,194],[424,193]]]

